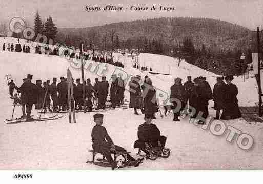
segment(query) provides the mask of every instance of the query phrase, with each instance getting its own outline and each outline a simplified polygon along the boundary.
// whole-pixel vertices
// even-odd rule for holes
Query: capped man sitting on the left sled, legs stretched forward
[[[124,148],[113,144],[113,141],[110,138],[109,134],[107,133],[106,128],[102,126],[103,114],[95,114],[93,115],[93,117],[96,125],[93,127],[91,132],[92,148],[94,149],[95,152],[103,154],[106,157],[106,159],[111,163],[112,169],[115,169],[117,165],[113,161],[111,157],[111,153],[114,153],[116,151],[119,152],[127,152],[127,151]],[[136,167],[140,164],[143,158],[135,160],[131,155],[127,154],[127,160],[128,161],[127,163],[125,163],[125,165],[129,165],[133,163],[133,165]]]

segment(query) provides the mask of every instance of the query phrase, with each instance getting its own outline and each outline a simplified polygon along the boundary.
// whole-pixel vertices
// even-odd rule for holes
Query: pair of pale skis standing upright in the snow
[[[68,104],[69,104],[69,123],[71,124],[72,118],[71,114],[73,114],[73,122],[76,123],[76,115],[75,115],[75,108],[71,107],[74,106],[74,96],[73,96],[73,81],[72,81],[72,74],[70,70],[67,70],[67,87],[68,87]]]

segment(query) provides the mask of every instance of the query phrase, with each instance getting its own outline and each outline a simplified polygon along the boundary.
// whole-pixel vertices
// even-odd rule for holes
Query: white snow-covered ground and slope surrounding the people
[[[13,38],[6,38],[9,43],[16,43]],[[12,39],[12,40],[11,40]],[[6,41],[5,41],[6,42]],[[24,40],[21,40],[24,42]],[[25,122],[23,124],[6,124],[5,119],[11,118],[12,100],[9,98],[9,87],[4,75],[11,74],[17,86],[22,84],[22,79],[27,74],[33,75],[33,82],[42,79],[52,80],[60,76],[66,76],[69,67],[74,79],[81,78],[77,61],[73,65],[65,58],[52,55],[26,54],[2,51],[4,39],[0,38],[0,97],[2,112],[0,113],[0,169],[85,169],[101,170],[100,166],[86,163],[92,160],[92,155],[87,150],[91,149],[91,129],[94,126],[92,113],[77,113],[76,124],[69,124],[68,115],[55,121]],[[23,45],[22,45],[23,46]],[[7,46],[6,46],[7,47]],[[34,49],[31,48],[31,52]],[[171,75],[151,75],[147,72],[128,67],[125,69],[112,65],[102,68],[107,79],[116,72],[123,70],[127,75],[141,75],[143,78],[148,75],[152,78],[153,85],[165,92],[170,92],[173,78],[181,77],[183,82],[188,75],[192,78],[200,75],[206,76],[213,88],[216,75],[190,65],[184,61],[177,67],[178,60],[155,54],[140,54],[140,62],[148,66],[158,68],[158,72],[165,72],[164,66],[170,65]],[[91,68],[96,66],[88,62]],[[105,65],[105,64],[104,64]],[[92,84],[95,77],[101,77],[100,72],[92,69],[85,70],[85,78],[91,78]],[[240,106],[253,106],[257,100],[255,79],[244,79],[235,77],[233,83],[237,85],[239,94],[237,96]],[[127,88],[128,89],[128,88]],[[129,92],[125,93],[126,100],[129,100]],[[161,101],[160,101],[161,104]],[[210,101],[209,112],[212,116],[215,111],[211,108],[213,101]],[[21,116],[21,107],[16,107],[14,117]],[[163,110],[163,108],[161,108]],[[32,114],[37,117],[38,110]],[[140,112],[140,111],[138,111]],[[44,116],[50,116],[46,114]],[[113,139],[114,144],[126,148],[136,157],[137,149],[133,149],[133,143],[137,139],[137,128],[144,122],[143,115],[134,115],[133,109],[114,109],[104,113],[104,126]],[[167,136],[167,147],[171,149],[168,159],[157,159],[155,161],[144,160],[137,168],[129,167],[124,170],[149,170],[149,169],[263,169],[263,125],[260,123],[247,123],[244,119],[224,121],[242,133],[253,136],[254,146],[250,150],[241,150],[236,139],[232,143],[226,141],[229,131],[224,135],[215,136],[208,130],[189,123],[189,118],[181,119],[174,123],[172,115],[161,119],[156,114],[153,123],[160,129],[161,134]]]

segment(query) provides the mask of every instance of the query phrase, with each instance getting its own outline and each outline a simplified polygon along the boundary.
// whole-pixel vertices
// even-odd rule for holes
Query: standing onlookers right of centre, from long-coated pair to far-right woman
[[[204,119],[209,115],[209,100],[214,100],[213,108],[216,110],[215,119],[229,120],[241,117],[236,97],[238,89],[236,85],[232,83],[233,76],[226,76],[225,78],[217,77],[217,83],[213,91],[206,81],[206,77],[200,76],[192,81],[191,76],[188,76],[187,79],[183,85],[181,78],[175,78],[174,85],[170,88],[170,102],[172,103],[170,108],[174,112],[173,121],[180,121],[179,117],[181,113],[190,114],[191,118],[194,119],[201,113],[200,116],[202,119],[198,120],[198,124],[204,124]],[[224,82],[224,79],[227,83]],[[145,77],[143,84],[140,84],[140,81],[141,78],[139,75],[133,77],[130,81],[129,107],[134,109],[134,114],[138,114],[137,109],[140,109],[142,114],[149,115],[152,119],[155,119],[155,113],[159,111],[156,101],[156,91],[148,76]],[[148,86],[147,89],[145,87],[146,85]],[[147,90],[147,92],[144,90]],[[166,114],[168,105],[165,105],[164,108]],[[193,109],[195,110],[193,111]],[[222,114],[220,117],[221,110]]]

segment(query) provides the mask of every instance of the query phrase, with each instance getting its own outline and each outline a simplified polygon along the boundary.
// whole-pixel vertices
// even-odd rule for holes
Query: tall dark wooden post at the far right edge
[[[259,38],[259,27],[257,27],[257,54],[258,54],[258,115],[262,116],[261,104],[262,104],[262,89],[261,89],[261,73],[260,73],[260,38]]]

